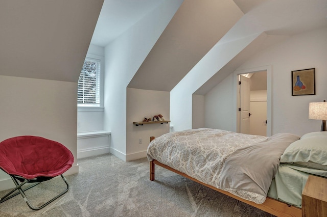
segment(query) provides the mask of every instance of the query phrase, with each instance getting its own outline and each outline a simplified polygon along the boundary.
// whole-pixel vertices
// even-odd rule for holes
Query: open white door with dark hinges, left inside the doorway
[[[240,133],[250,134],[250,78],[240,75]]]

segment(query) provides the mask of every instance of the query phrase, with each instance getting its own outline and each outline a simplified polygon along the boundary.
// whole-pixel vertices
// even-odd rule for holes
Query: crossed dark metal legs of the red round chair
[[[62,180],[66,183],[66,186],[67,186],[66,189],[65,189],[63,192],[61,192],[59,195],[57,195],[56,197],[52,198],[51,200],[49,200],[48,202],[44,203],[42,206],[39,206],[39,207],[35,207],[35,206],[33,206],[33,205],[30,203],[30,201],[29,201],[28,198],[26,197],[25,191],[27,191],[28,189],[30,189],[30,188],[32,188],[32,187],[38,185],[40,182],[38,182],[38,183],[36,183],[36,184],[33,184],[33,185],[27,187],[26,189],[22,189],[21,186],[24,185],[24,184],[26,184],[26,183],[28,183],[29,180],[25,180],[25,181],[22,182],[21,184],[18,184],[17,180],[16,180],[13,176],[10,176],[11,179],[14,181],[16,187],[15,187],[12,191],[10,191],[7,195],[5,195],[4,197],[2,197],[2,198],[0,199],[0,203],[2,203],[2,202],[4,202],[4,201],[6,201],[6,200],[8,200],[8,199],[10,199],[10,198],[12,198],[12,197],[18,195],[18,194],[20,194],[20,195],[22,196],[22,198],[24,198],[25,202],[27,203],[27,205],[28,205],[31,209],[33,209],[33,210],[39,210],[39,209],[42,209],[43,207],[45,207],[46,205],[49,205],[51,202],[53,202],[54,200],[56,200],[57,198],[59,198],[60,196],[62,196],[63,194],[65,194],[65,193],[68,191],[68,189],[69,189],[69,184],[68,184],[66,178],[65,178],[62,174],[61,174],[60,176],[61,176]],[[12,193],[13,193],[14,191],[16,191],[16,190],[18,190],[19,192],[17,192],[17,193],[14,194],[14,195],[9,196],[10,194],[12,194]],[[9,197],[8,197],[8,196],[9,196]]]

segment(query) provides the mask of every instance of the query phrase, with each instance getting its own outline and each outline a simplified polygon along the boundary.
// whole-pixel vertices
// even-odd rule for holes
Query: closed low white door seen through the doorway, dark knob
[[[267,101],[251,101],[250,134],[267,135]]]

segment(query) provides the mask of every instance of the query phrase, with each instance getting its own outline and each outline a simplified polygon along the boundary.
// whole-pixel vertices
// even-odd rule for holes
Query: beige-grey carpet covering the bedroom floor
[[[0,204],[0,216],[272,216],[158,166],[150,181],[146,158],[124,162],[105,154],[78,164],[79,174],[66,177],[71,188],[65,195],[38,211],[17,195]],[[38,205],[64,187],[54,178],[27,197]]]

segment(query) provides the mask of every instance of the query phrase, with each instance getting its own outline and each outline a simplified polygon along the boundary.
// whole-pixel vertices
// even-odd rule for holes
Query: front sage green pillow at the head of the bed
[[[291,143],[280,162],[327,171],[327,134],[320,132],[302,135]]]

